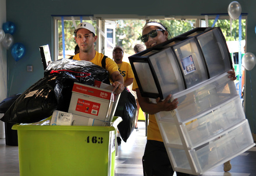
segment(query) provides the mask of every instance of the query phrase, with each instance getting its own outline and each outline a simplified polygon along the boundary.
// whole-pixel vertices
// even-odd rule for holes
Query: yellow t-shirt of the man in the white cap
[[[101,61],[102,61],[103,57],[104,57],[104,54],[96,51],[94,58],[90,62],[102,67]],[[73,60],[81,60],[79,57],[79,53],[73,57]],[[118,67],[117,67],[116,62],[109,57],[106,58],[106,70],[109,72],[110,75],[113,72],[118,72]]]

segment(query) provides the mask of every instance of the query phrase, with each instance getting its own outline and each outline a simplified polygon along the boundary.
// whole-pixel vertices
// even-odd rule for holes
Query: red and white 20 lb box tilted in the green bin
[[[110,121],[114,99],[114,94],[110,90],[75,82],[68,112]]]

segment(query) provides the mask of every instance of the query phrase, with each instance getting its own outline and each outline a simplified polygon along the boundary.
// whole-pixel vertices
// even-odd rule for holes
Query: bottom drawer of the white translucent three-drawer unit
[[[249,123],[245,119],[200,147],[184,150],[166,145],[166,149],[176,171],[199,175],[253,146]]]

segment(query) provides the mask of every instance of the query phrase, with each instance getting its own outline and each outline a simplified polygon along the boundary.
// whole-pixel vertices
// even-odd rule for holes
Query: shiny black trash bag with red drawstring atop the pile
[[[54,90],[57,98],[56,109],[58,111],[68,112],[69,103],[67,102],[71,100],[74,82],[91,86],[95,85],[95,81],[110,84],[108,71],[89,61],[66,58],[59,59],[48,65],[45,76],[56,73],[62,75],[56,80]],[[67,77],[72,79],[67,79]],[[75,80],[73,81],[73,79]]]

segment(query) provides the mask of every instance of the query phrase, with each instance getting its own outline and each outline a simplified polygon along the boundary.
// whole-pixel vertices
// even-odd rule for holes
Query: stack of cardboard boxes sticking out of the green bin
[[[75,82],[68,113],[54,111],[51,125],[110,126],[119,95],[111,85],[97,86]]]

